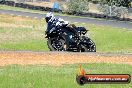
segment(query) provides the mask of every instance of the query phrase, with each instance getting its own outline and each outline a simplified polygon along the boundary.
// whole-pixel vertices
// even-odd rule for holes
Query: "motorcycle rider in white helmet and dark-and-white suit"
[[[68,21],[64,21],[61,18],[56,19],[54,17],[53,12],[49,12],[46,14],[45,20],[47,22],[47,32],[50,31],[52,26],[54,26],[56,29],[62,27],[62,26],[67,26],[69,24]]]

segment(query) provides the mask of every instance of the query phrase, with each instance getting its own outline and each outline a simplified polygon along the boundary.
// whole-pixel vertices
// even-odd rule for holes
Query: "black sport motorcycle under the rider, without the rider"
[[[50,51],[96,52],[95,43],[86,36],[84,27],[54,26],[45,32]]]

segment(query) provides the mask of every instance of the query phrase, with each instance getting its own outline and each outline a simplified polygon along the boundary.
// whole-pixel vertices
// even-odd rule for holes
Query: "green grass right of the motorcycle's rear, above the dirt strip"
[[[131,53],[132,31],[106,26],[90,26],[90,36],[101,52]]]

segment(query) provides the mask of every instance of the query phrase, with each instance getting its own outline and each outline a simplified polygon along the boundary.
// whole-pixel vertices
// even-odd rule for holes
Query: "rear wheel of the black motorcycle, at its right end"
[[[84,38],[81,44],[81,52],[96,52],[96,45],[90,38]]]

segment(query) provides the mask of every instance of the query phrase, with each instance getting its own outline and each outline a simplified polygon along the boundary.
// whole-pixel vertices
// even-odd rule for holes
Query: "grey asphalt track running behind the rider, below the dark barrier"
[[[31,17],[31,18],[38,18],[43,19],[45,17],[45,14],[40,13],[30,13],[30,12],[21,12],[21,11],[12,11],[12,10],[0,10],[0,14],[10,14],[10,15],[18,15],[18,16],[25,16],[25,17]],[[132,22],[128,21],[115,21],[115,20],[105,20],[105,19],[95,19],[95,18],[89,18],[89,17],[71,17],[71,16],[56,16],[57,18],[63,18],[66,21],[69,21],[70,23],[90,23],[95,25],[107,25],[117,28],[127,28],[132,30]]]

